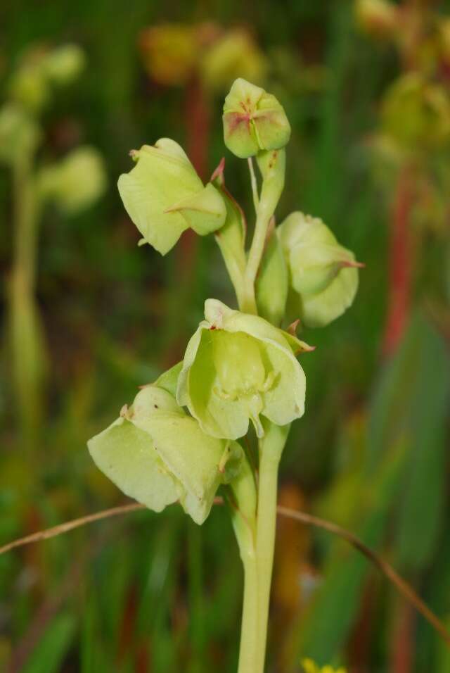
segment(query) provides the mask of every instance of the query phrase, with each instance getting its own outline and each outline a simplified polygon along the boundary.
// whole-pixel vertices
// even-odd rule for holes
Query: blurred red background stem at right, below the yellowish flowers
[[[413,204],[411,172],[399,175],[390,220],[388,253],[389,287],[383,353],[396,351],[404,334],[411,304],[412,245],[411,208]]]

